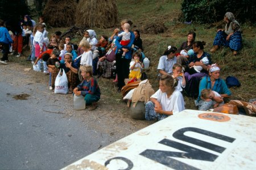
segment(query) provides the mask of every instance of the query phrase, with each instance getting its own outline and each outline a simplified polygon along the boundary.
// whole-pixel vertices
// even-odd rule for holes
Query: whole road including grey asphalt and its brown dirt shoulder
[[[95,111],[74,111],[72,94],[53,94],[48,75],[26,69],[0,65],[0,169],[60,169],[151,124],[104,95]]]

